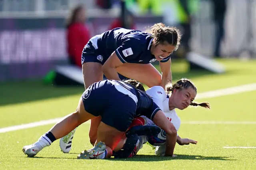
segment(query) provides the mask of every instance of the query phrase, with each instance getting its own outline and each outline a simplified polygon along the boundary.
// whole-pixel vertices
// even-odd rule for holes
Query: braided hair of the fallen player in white
[[[194,83],[192,83],[189,79],[180,79],[174,85],[172,85],[171,83],[166,85],[166,91],[170,92],[170,91],[173,91],[174,89],[177,89],[177,90],[182,89],[182,88],[188,89],[190,87],[192,89],[194,89],[197,93],[197,89],[196,89],[196,86],[194,85]],[[201,106],[201,107],[210,109],[210,104],[208,102],[203,102],[203,103],[191,102],[190,105],[191,106]]]

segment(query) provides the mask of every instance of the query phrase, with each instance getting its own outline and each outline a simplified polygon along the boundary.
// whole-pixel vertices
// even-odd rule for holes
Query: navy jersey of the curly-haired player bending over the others
[[[102,55],[110,57],[115,51],[122,63],[147,64],[156,61],[150,53],[152,34],[139,30],[115,28],[98,36],[97,45]],[[170,56],[162,59],[166,62]]]

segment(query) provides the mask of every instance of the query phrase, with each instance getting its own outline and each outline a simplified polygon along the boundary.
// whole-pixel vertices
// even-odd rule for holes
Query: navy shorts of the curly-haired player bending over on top
[[[82,64],[87,62],[94,62],[104,64],[109,56],[105,56],[102,51],[98,49],[97,45],[98,35],[92,37],[84,46],[82,52]]]

